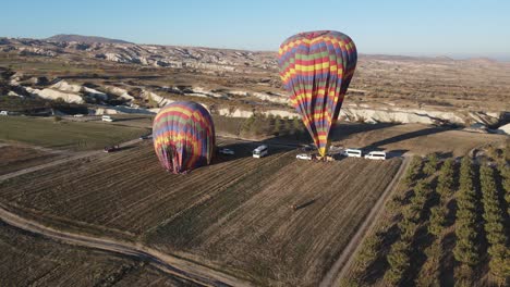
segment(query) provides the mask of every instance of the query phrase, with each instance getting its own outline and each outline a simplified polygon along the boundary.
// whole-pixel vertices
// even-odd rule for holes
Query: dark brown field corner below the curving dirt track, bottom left
[[[0,223],[2,286],[194,286],[144,262],[59,244]]]

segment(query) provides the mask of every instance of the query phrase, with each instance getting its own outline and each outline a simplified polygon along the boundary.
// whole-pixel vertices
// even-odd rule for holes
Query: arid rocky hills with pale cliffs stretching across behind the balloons
[[[275,52],[99,40],[0,38],[0,96],[87,104],[92,113],[153,113],[190,99],[227,116],[296,116]],[[361,54],[341,116],[484,132],[506,124],[508,111],[508,63]]]

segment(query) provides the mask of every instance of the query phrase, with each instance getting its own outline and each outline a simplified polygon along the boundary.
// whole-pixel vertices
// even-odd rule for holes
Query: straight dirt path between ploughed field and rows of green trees
[[[340,280],[345,276],[347,271],[354,262],[354,255],[357,253],[357,249],[361,247],[361,242],[363,241],[364,236],[368,233],[369,229],[375,225],[377,222],[377,216],[382,212],[382,208],[385,207],[386,201],[390,198],[390,195],[397,188],[402,175],[405,173],[408,169],[409,162],[411,161],[410,157],[404,157],[402,164],[399,167],[399,171],[394,175],[391,183],[386,187],[385,191],[377,200],[374,208],[372,208],[371,212],[366,216],[365,221],[362,225],[357,228],[355,235],[349,241],[349,245],[343,249],[342,253],[335,262],[331,270],[326,274],[320,283],[320,287],[326,286],[340,286]]]

